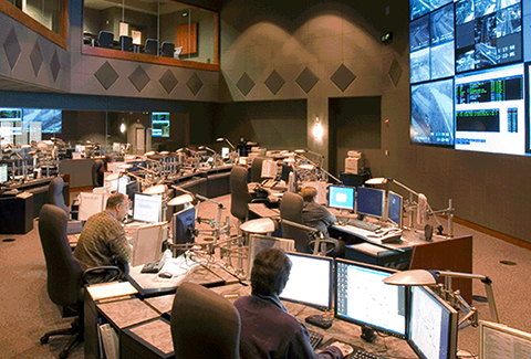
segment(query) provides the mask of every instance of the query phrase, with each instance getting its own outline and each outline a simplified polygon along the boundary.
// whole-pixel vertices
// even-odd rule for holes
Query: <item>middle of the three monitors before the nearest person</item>
[[[404,339],[407,291],[383,282],[395,271],[336,260],[336,318]]]

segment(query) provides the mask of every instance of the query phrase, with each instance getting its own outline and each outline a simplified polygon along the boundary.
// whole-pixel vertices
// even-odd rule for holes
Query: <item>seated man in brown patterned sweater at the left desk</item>
[[[131,262],[132,246],[121,222],[127,215],[128,200],[122,193],[108,197],[105,211],[91,215],[83,226],[74,257],[83,271],[102,265],[124,265]],[[90,283],[106,282],[106,274],[94,274]]]

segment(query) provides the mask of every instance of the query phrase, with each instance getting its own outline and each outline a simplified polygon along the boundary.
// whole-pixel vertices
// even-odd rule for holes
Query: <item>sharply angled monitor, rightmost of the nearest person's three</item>
[[[456,309],[428,287],[414,286],[408,317],[407,342],[419,358],[456,358]]]

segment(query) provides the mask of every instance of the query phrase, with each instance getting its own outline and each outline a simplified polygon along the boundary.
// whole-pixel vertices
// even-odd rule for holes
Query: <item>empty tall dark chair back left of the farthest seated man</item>
[[[230,214],[238,219],[241,224],[249,219],[249,202],[251,194],[247,187],[247,168],[232,167],[229,176],[230,184]],[[238,225],[239,228],[239,225]]]

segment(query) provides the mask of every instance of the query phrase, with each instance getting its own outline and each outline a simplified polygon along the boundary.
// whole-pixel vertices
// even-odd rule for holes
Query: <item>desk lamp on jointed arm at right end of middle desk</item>
[[[442,234],[442,224],[440,223],[437,214],[448,215],[448,236],[450,236],[450,237],[454,236],[454,208],[451,205],[452,204],[451,203],[451,198],[448,200],[448,208],[446,208],[444,210],[439,210],[439,211],[434,211],[431,209],[431,207],[429,205],[429,203],[426,199],[426,196],[424,196],[423,193],[418,193],[418,192],[414,191],[413,189],[410,189],[406,184],[404,184],[402,182],[398,182],[397,180],[395,180],[393,178],[385,178],[385,177],[371,178],[371,179],[365,181],[365,184],[378,186],[378,184],[387,184],[389,182],[393,182],[396,186],[402,187],[403,189],[405,189],[406,191],[409,192],[409,203],[413,204],[413,207],[412,207],[413,210],[415,209],[415,207],[417,208],[417,222],[419,222],[419,223],[424,222],[424,217],[425,217],[424,213],[429,214],[429,215],[434,215],[435,220],[437,221],[437,224],[439,225],[438,226],[439,234]],[[419,200],[417,202],[415,202],[413,200],[413,196],[416,196]],[[410,217],[409,217],[409,226],[412,229],[415,226],[414,221],[413,221],[413,211],[410,212]]]

